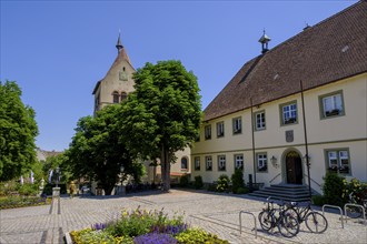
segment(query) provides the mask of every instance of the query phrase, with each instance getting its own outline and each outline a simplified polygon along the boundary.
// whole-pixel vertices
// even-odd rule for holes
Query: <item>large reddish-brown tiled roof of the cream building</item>
[[[247,63],[205,109],[205,121],[367,71],[361,0]]]

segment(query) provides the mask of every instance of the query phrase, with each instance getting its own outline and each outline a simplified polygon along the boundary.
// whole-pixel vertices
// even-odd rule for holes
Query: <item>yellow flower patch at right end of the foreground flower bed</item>
[[[214,243],[214,244],[227,244],[228,241],[224,241],[218,238],[217,235],[209,234],[206,231],[200,228],[190,228],[186,232],[182,232],[176,236],[176,240],[179,243],[185,244],[206,244],[206,243]]]

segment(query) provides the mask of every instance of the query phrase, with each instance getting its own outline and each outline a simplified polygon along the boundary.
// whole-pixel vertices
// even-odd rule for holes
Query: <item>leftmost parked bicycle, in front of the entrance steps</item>
[[[259,213],[259,222],[264,231],[270,232],[278,227],[279,233],[285,237],[294,237],[299,232],[299,223],[296,217],[285,213],[285,205],[267,202],[267,207]]]

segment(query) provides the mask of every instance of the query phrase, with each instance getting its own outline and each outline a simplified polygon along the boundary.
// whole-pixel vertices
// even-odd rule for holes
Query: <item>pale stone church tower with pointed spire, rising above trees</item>
[[[117,58],[107,72],[106,77],[98,81],[95,90],[95,113],[103,106],[112,103],[120,103],[128,93],[133,91],[132,73],[135,69],[121,44],[120,35],[117,40]]]

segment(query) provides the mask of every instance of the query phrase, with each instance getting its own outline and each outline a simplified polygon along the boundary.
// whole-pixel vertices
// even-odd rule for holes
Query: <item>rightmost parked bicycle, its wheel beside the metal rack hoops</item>
[[[313,233],[324,233],[328,227],[326,217],[314,211],[310,202],[307,202],[306,206],[299,206],[296,202],[287,203],[285,212],[296,217],[300,224],[305,222],[307,228]]]

